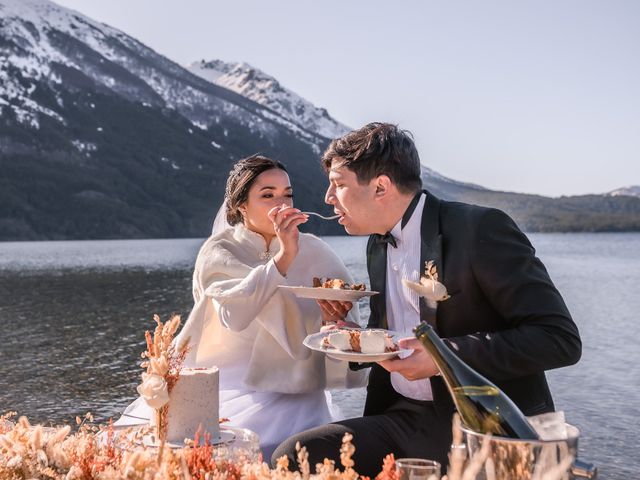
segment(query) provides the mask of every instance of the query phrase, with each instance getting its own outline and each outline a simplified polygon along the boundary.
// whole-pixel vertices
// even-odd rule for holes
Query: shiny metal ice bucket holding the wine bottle
[[[491,468],[495,471],[496,480],[595,479],[598,475],[597,468],[576,459],[580,430],[568,423],[566,427],[567,438],[563,440],[516,440],[495,436],[489,438],[488,435],[476,433],[464,425],[462,431],[468,459],[480,451],[485,440],[489,442],[489,455],[478,473],[477,480],[486,480],[487,469]],[[568,458],[573,459],[573,462]]]

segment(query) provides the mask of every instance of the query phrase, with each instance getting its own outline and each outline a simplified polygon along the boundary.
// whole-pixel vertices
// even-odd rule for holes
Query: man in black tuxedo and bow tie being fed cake
[[[329,174],[325,201],[350,235],[370,235],[369,327],[406,332],[427,321],[467,364],[498,385],[526,415],[554,409],[545,370],[576,363],[578,329],[527,237],[499,210],[440,200],[421,190],[420,159],[410,134],[371,123],[334,140],[322,158]],[[417,281],[433,261],[451,297],[437,309],[402,284]],[[323,302],[340,311],[339,302]],[[429,354],[416,339],[405,358],[373,364],[364,416],[307,430],[295,444],[311,465],[340,464],[343,435],[352,433],[355,468],[373,478],[383,458],[430,458],[443,469],[454,405]],[[369,365],[363,365],[369,366]],[[353,368],[357,368],[354,366]]]

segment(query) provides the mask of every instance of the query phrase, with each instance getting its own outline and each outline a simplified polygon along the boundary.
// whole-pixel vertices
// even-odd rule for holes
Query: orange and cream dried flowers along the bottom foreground
[[[306,448],[298,449],[298,467],[289,471],[286,457],[271,469],[265,462],[247,458],[215,460],[215,449],[207,441],[200,442],[196,434],[192,446],[181,449],[145,447],[141,443],[120,443],[114,440],[111,424],[98,428],[87,414],[76,433],[69,426],[46,428],[32,426],[25,417],[14,424],[14,414],[0,417],[0,479],[2,480],[369,480],[354,469],[355,446],[351,435],[344,436],[340,449],[342,470],[332,460],[325,459],[311,473]],[[459,421],[454,421],[454,444],[462,442]],[[479,474],[494,480],[495,465],[489,458],[489,442],[471,459],[453,449],[449,469],[443,480],[474,480]],[[561,459],[554,468],[534,475],[535,480],[566,478],[571,457]],[[519,478],[519,477],[514,477]],[[399,480],[392,454],[387,455],[382,471],[375,480]]]

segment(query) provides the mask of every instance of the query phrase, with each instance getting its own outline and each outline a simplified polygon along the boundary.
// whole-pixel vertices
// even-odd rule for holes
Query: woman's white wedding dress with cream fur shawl
[[[283,277],[262,236],[236,225],[212,236],[193,274],[194,308],[177,342],[189,339],[188,367],[220,369],[220,417],[260,436],[268,460],[289,436],[337,420],[327,388],[363,386],[364,371],[302,345],[321,325],[315,300],[299,299],[278,285],[310,286],[312,278],[351,280],[344,264],[319,238],[300,234],[299,253]],[[350,312],[357,321],[358,308]],[[125,414],[149,415],[142,399]],[[146,415],[145,415],[146,414]]]

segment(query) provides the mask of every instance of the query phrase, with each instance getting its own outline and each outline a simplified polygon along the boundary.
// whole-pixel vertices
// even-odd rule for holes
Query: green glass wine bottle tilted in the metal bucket
[[[414,330],[440,370],[462,422],[477,433],[537,440],[538,434],[513,401],[445,345],[431,325]]]

